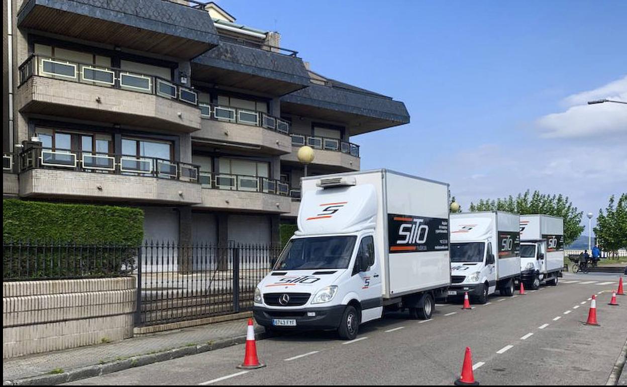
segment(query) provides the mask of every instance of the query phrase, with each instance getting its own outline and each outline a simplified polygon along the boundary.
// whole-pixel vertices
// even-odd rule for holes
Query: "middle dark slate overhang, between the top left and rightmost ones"
[[[192,61],[194,80],[281,96],[310,85],[300,58],[221,41]]]

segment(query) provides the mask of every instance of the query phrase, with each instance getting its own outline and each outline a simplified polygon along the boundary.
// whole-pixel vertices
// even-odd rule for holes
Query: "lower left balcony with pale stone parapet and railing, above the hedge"
[[[33,148],[20,155],[19,196],[164,204],[201,203],[198,167],[145,157]]]

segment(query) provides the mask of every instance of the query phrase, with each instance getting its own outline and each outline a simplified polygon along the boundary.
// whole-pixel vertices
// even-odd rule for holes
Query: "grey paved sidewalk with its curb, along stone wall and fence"
[[[246,341],[247,321],[219,322],[107,344],[4,359],[3,384],[59,384],[240,344]],[[255,332],[258,339],[262,338],[263,327],[255,326]]]

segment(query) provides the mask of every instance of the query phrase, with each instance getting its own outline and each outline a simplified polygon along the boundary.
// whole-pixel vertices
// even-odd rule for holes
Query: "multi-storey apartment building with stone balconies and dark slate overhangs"
[[[310,174],[354,171],[354,136],[409,122],[214,3],[3,6],[4,197],[137,206],[147,240],[277,242],[300,146]]]

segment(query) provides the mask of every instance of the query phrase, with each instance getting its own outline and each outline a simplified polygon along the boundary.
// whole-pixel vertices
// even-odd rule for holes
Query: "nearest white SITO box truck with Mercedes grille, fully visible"
[[[448,184],[384,169],[302,179],[298,231],[255,290],[270,331],[354,339],[384,310],[429,319],[450,285]]]

